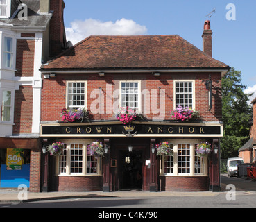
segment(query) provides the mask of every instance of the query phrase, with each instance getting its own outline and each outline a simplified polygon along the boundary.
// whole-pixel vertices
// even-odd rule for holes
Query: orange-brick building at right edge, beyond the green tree
[[[245,163],[253,163],[256,160],[256,98],[251,103],[253,104],[253,124],[250,128],[250,139],[239,149],[239,157],[243,158]]]

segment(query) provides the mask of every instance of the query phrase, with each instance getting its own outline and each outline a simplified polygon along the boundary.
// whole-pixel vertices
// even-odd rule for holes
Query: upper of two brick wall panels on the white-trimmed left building
[[[29,35],[29,36],[32,36]],[[15,76],[33,76],[35,40],[17,40]]]

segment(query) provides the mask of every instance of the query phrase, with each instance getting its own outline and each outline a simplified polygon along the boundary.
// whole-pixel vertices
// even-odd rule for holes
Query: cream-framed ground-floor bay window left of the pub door
[[[101,175],[101,157],[87,152],[92,140],[65,140],[62,155],[58,156],[56,171],[59,175]]]

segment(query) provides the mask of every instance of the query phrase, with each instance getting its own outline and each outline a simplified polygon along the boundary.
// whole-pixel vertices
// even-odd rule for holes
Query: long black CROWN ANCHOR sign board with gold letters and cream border
[[[223,126],[211,123],[135,122],[135,137],[222,137]],[[125,137],[123,124],[113,122],[42,124],[41,137]]]

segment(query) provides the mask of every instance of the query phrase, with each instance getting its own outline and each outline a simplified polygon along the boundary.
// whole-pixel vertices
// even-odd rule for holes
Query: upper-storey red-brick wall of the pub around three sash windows
[[[87,108],[90,108],[96,98],[91,98],[91,93],[94,89],[103,90],[104,95],[104,114],[94,114],[94,119],[114,119],[114,113],[107,114],[110,110],[107,106],[106,98],[111,99],[112,104],[117,99],[112,99],[112,94],[115,89],[119,89],[119,80],[141,80],[142,90],[148,89],[152,97],[152,89],[155,89],[157,94],[156,106],[159,109],[159,89],[165,90],[165,119],[171,119],[170,111],[173,109],[173,80],[195,80],[195,96],[196,110],[199,111],[203,121],[221,121],[221,74],[212,73],[212,110],[209,111],[209,94],[205,88],[205,80],[209,80],[209,74],[160,74],[160,77],[155,77],[153,74],[105,74],[105,77],[99,77],[98,74],[56,74],[56,78],[44,79],[42,88],[42,121],[61,121],[60,112],[66,106],[66,82],[67,80],[88,80],[87,81]],[[204,82],[203,82],[204,81]],[[112,94],[107,90],[107,84],[112,89]],[[144,99],[142,96],[142,112],[144,103],[151,104],[151,101]],[[150,105],[150,111],[152,111]],[[159,114],[146,114],[148,119],[157,117]]]

